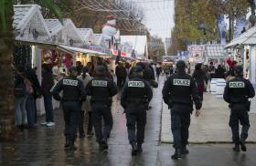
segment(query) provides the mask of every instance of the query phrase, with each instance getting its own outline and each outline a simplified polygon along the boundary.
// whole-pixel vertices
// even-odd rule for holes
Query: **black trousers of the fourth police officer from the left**
[[[171,129],[176,149],[187,146],[191,110],[191,105],[180,103],[174,103],[171,109]]]

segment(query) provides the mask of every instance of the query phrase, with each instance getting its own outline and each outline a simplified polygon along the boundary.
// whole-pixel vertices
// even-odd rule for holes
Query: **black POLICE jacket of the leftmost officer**
[[[62,99],[59,92],[63,91]],[[83,101],[86,99],[86,93],[83,83],[78,78],[62,78],[52,90],[53,98],[61,101]]]

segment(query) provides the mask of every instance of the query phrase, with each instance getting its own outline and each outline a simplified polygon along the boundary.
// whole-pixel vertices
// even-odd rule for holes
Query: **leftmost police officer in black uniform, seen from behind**
[[[76,67],[69,68],[69,77],[59,80],[52,94],[54,99],[62,102],[62,109],[65,120],[66,150],[77,150],[74,142],[77,137],[78,121],[80,114],[80,105],[86,99],[83,83],[77,78],[78,71]],[[59,92],[63,90],[63,97]]]

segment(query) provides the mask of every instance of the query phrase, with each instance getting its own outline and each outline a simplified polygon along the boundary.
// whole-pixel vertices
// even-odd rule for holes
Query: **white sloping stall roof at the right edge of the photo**
[[[237,45],[256,45],[256,26],[251,27],[240,37],[233,39],[225,48],[235,47]]]

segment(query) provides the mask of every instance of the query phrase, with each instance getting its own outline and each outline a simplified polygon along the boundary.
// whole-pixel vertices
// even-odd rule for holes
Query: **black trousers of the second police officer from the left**
[[[91,104],[91,116],[97,142],[101,144],[102,139],[109,139],[112,131],[112,110],[108,104],[95,102]],[[104,120],[102,132],[101,119]]]

